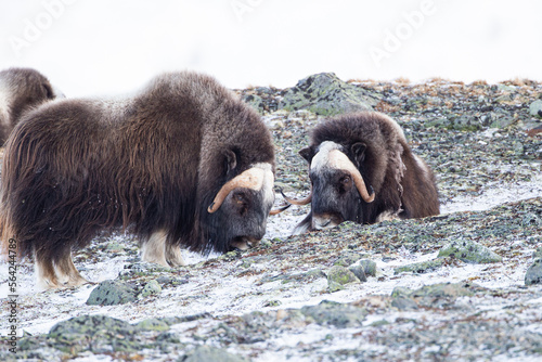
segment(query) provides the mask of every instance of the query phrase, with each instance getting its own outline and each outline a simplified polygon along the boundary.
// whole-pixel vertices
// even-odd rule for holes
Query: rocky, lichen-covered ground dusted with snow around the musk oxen
[[[2,340],[0,359],[542,357],[542,83],[341,82],[324,75],[287,90],[237,92],[271,129],[276,185],[289,196],[308,193],[297,152],[323,117],[314,112],[374,108],[401,125],[435,170],[442,215],[288,236],[308,212],[292,207],[270,218],[259,247],[189,256],[192,263],[178,269],[141,262],[129,236],[99,237],[75,257],[98,286],[39,293],[31,264],[20,267],[25,336],[16,355]],[[8,267],[0,269],[4,287]],[[0,328],[5,336],[7,318]]]

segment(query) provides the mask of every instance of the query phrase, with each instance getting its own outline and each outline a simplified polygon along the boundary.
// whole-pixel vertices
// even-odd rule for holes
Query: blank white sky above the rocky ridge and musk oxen
[[[130,92],[175,69],[229,88],[320,72],[540,81],[541,17],[539,0],[0,0],[0,69],[35,67],[67,96]]]

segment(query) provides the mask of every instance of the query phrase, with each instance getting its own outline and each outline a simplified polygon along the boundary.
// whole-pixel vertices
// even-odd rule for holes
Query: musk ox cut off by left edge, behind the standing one
[[[64,98],[38,70],[9,68],[0,72],[0,145],[25,112],[38,105]]]

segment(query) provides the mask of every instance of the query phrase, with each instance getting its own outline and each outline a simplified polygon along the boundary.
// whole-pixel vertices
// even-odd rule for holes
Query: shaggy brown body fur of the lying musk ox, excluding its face
[[[356,204],[352,221],[373,223],[386,215],[422,218],[439,214],[433,171],[412,153],[402,129],[388,116],[363,112],[326,119],[311,133],[310,146],[305,151],[309,164],[324,141],[340,144],[375,192],[374,202]],[[366,145],[361,163],[349,152],[356,143]],[[310,230],[311,218],[312,210],[299,228]]]

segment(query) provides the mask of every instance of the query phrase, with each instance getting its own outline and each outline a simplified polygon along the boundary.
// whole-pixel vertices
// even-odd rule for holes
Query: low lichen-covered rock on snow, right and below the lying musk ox
[[[470,240],[452,242],[442,247],[438,255],[439,258],[452,256],[464,262],[476,264],[502,261],[501,256],[491,251],[486,246],[475,243]]]

